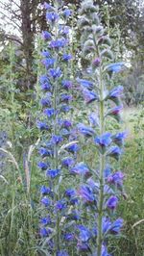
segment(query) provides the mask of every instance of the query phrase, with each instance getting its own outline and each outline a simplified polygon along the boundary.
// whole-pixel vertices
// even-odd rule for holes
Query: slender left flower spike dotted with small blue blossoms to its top
[[[39,77],[42,91],[40,99],[42,113],[36,120],[41,132],[38,167],[45,173],[40,188],[41,207],[39,234],[42,248],[49,255],[68,255],[65,243],[73,242],[69,221],[77,219],[73,206],[77,203],[75,190],[65,186],[67,168],[74,166],[79,145],[73,136],[70,116],[73,100],[70,80],[69,27],[66,25],[71,11],[62,1],[53,6],[43,4],[49,31],[42,32],[44,47],[41,64],[44,74]],[[42,209],[41,209],[42,208]]]

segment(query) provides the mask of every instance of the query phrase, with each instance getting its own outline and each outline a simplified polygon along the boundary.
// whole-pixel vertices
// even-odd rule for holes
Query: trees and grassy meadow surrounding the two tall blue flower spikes
[[[43,1],[0,1],[1,18],[7,26],[0,32],[0,255],[44,255],[38,247],[38,188],[42,175],[37,169],[36,129],[38,115],[39,32],[46,29]],[[128,131],[120,168],[125,172],[126,194],[119,207],[125,219],[120,241],[110,241],[114,256],[144,255],[144,6],[142,1],[95,1],[102,22],[113,39],[115,59],[126,60],[129,68],[118,81],[124,85],[124,129]],[[72,72],[80,60],[80,32],[76,27],[80,1],[66,1],[73,9],[71,26]],[[9,26],[8,26],[9,25]],[[11,28],[11,32],[9,31]],[[13,29],[12,29],[13,28]],[[85,65],[81,60],[82,67]],[[77,94],[75,95],[77,97]],[[77,98],[79,121],[84,110]],[[80,111],[81,110],[81,111]],[[108,124],[110,126],[110,123]],[[84,148],[87,152],[88,148]],[[92,162],[94,156],[90,156]]]

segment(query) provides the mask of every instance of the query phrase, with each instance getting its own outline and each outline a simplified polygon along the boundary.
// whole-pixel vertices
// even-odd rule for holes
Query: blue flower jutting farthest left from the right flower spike
[[[84,175],[86,178],[90,175],[89,168],[84,163],[77,164],[76,166],[71,168],[70,173]]]

